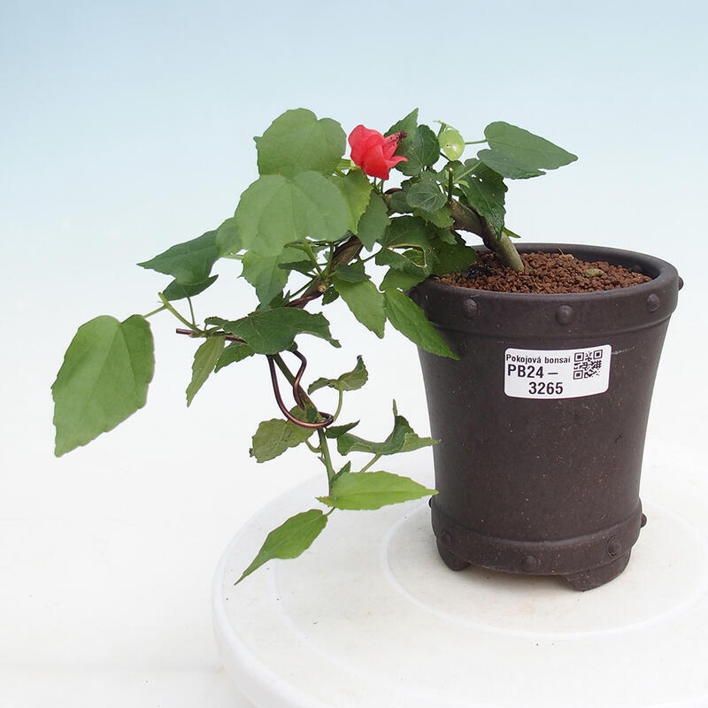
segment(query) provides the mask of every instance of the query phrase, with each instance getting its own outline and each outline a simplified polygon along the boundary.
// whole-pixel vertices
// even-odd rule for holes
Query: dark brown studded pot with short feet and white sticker
[[[519,250],[562,250],[653,280],[572,295],[433,279],[412,290],[459,355],[419,352],[431,433],[440,441],[433,528],[454,570],[559,575],[573,589],[591,589],[625,569],[646,521],[644,438],[680,279],[665,261],[627,250]]]

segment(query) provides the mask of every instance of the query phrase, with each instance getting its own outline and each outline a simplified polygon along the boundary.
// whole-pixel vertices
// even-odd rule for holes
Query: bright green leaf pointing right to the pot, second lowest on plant
[[[427,489],[417,481],[398,474],[342,472],[332,482],[329,495],[317,498],[334,509],[373,510],[436,493],[435,489]]]

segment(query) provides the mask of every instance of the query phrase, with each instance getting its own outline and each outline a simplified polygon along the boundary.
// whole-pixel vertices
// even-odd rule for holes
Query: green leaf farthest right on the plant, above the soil
[[[481,150],[478,157],[503,177],[515,178],[514,172],[521,173],[523,168],[527,169],[527,176],[536,176],[543,174],[543,170],[555,170],[578,159],[573,153],[545,138],[503,121],[489,123],[484,129],[484,135],[489,142],[491,155],[489,150]],[[497,166],[504,169],[502,156],[506,158],[505,169],[509,173],[497,169]],[[496,161],[496,166],[490,164],[490,158],[491,162]]]

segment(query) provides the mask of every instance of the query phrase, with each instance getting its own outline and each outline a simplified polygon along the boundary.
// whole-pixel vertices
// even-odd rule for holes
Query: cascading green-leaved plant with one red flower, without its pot
[[[306,445],[326,470],[327,495],[273,530],[239,581],[271,558],[300,555],[336,509],[378,509],[435,494],[378,469],[381,458],[435,443],[416,435],[395,403],[392,427],[380,441],[359,437],[352,432],[357,423],[342,422],[344,394],[367,380],[361,356],[350,371],[311,379],[305,387],[302,335],[340,346],[325,316],[312,308],[341,299],[373,334],[382,337],[388,322],[420,348],[456,358],[407,290],[474,262],[476,251],[461,232],[480,236],[508,266],[522,268],[514,235],[504,226],[504,179],[535,177],[576,159],[504,122],[491,123],[483,137],[466,142],[450,125],[433,129],[419,123],[418,111],[385,136],[355,127],[349,158],[343,157],[347,136],[341,125],[304,109],[283,113],[255,141],[259,176],[242,193],[235,214],[139,264],[171,278],[158,294],[157,309],[83,324],[52,386],[59,456],[146,403],[154,369],[148,320],[158,312],[171,313],[181,325],[177,332],[200,342],[188,405],[210,374],[245,358],[266,357],[266,386],[273,387],[281,415],[258,425],[250,454],[262,463]],[[477,151],[463,159],[467,145]],[[389,184],[392,169],[398,179]],[[217,281],[212,267],[219,259],[240,262],[239,274],[255,289],[258,306],[199,320],[193,300]],[[312,403],[312,393],[324,388],[338,396],[335,412],[320,412]]]

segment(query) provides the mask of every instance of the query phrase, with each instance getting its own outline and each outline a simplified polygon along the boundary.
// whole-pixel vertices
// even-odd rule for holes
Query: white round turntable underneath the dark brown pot
[[[450,571],[420,502],[335,512],[304,556],[234,587],[273,527],[317,505],[322,482],[308,482],[243,527],[219,564],[221,658],[263,708],[708,705],[704,476],[681,450],[648,452],[648,524],[627,570],[586,593]]]

